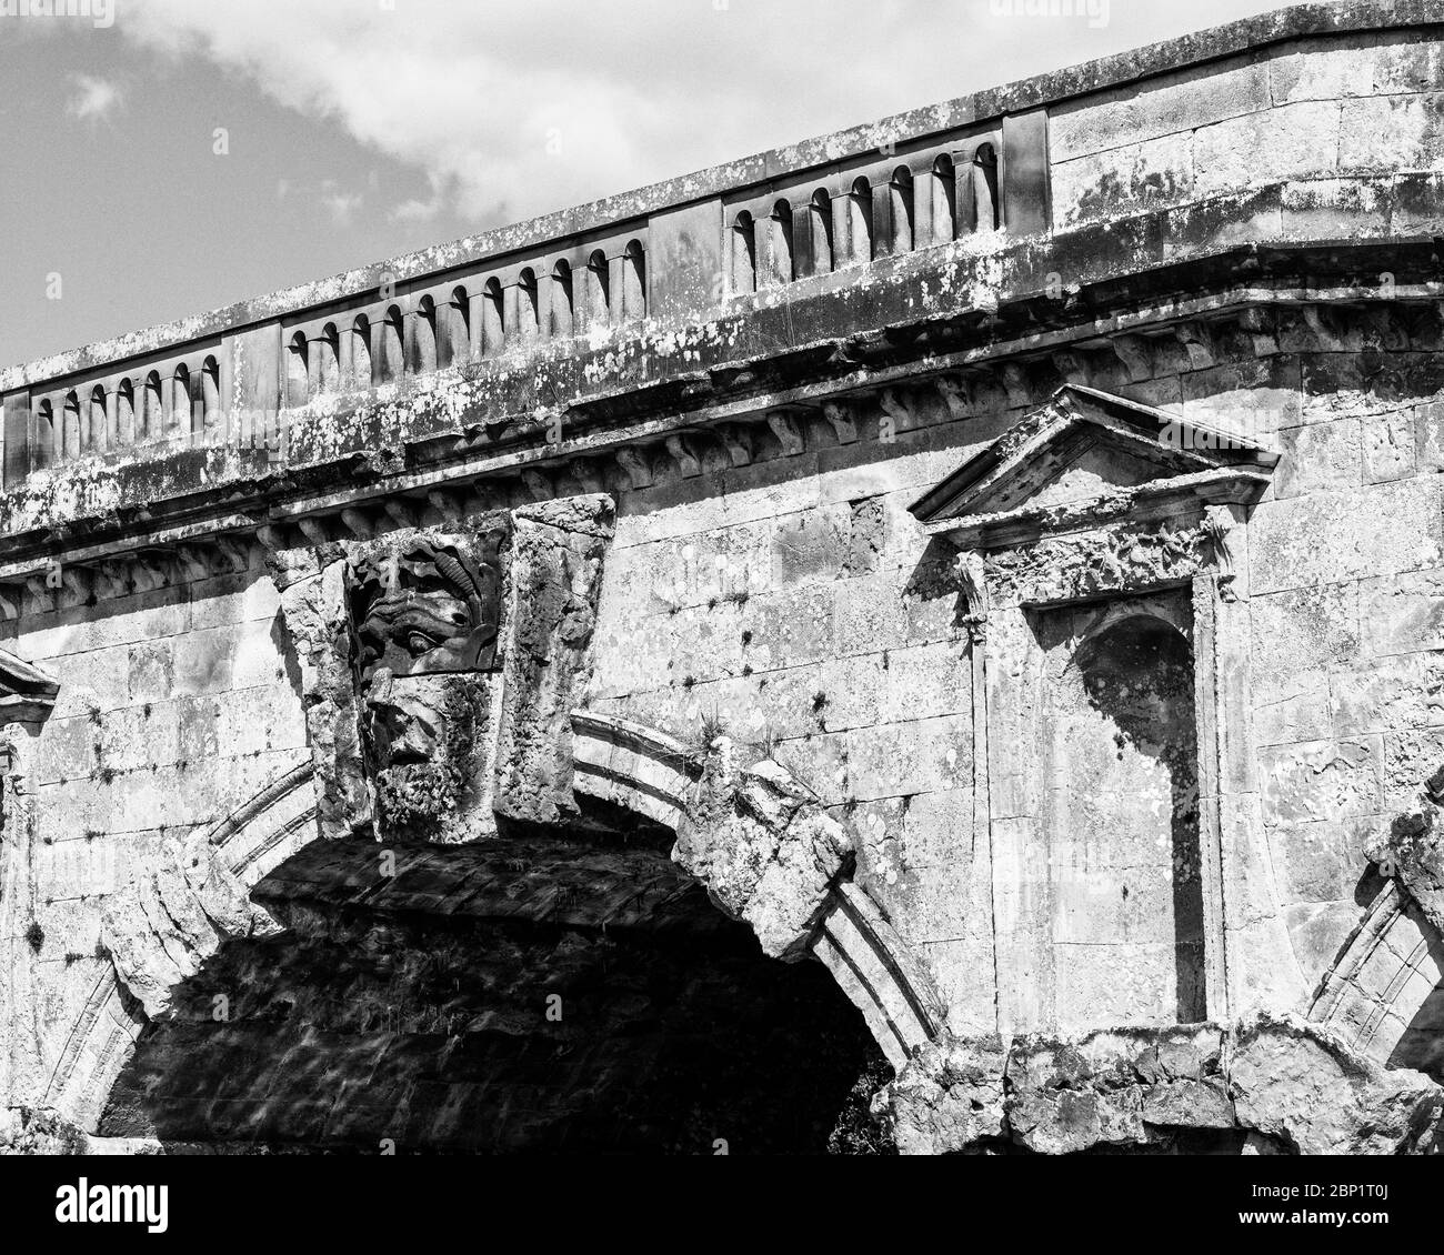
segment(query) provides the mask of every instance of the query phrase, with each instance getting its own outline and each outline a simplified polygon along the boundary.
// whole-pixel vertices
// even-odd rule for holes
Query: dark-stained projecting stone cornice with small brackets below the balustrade
[[[52,478],[53,503],[69,518],[0,542],[0,614],[84,605],[163,585],[180,570],[191,578],[240,570],[254,544],[319,544],[864,445],[882,436],[884,423],[907,433],[985,417],[1038,404],[1069,381],[1116,391],[1279,352],[1435,352],[1444,286],[1406,282],[1432,269],[1432,246],[1422,241],[1323,254],[1246,247],[1121,280],[1112,300],[1128,303],[1105,305],[1105,285],[1090,285],[1061,300],[921,311],[910,326],[784,345],[773,355],[764,348],[749,360],[738,360],[735,347],[725,344],[718,360],[695,364],[684,377],[631,387],[624,378],[606,380],[605,390],[566,410],[563,439],[554,443],[546,440],[544,412],[488,423],[494,410],[474,396],[475,409],[468,409],[472,383],[458,375],[448,387],[427,390],[427,409],[409,410],[409,427],[388,438],[383,416],[370,407],[358,429],[370,438],[365,443],[309,462],[273,469],[264,451],[243,456],[234,449],[189,449],[111,468],[111,504],[104,508],[87,507],[84,481],[61,492],[71,481]],[[1401,282],[1389,293],[1352,283],[1344,272],[1354,261],[1363,270],[1388,261]],[[1343,282],[1328,286],[1321,282],[1326,273]],[[1204,280],[1212,290],[1181,295]],[[856,326],[858,311],[840,298],[822,292],[816,300],[820,308],[842,303],[836,325]],[[530,387],[534,399],[534,378]],[[332,436],[341,417],[326,416]],[[129,495],[118,491],[123,474],[134,477]],[[26,485],[6,495],[12,518],[45,504],[33,494],[35,485]],[[64,572],[59,586],[55,568]]]

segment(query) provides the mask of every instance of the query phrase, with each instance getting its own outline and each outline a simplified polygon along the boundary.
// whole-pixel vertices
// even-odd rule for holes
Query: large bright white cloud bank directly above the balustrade
[[[1086,23],[988,0],[127,0],[118,26],[416,168],[393,218],[484,225],[1274,4],[1113,0],[1083,53]]]

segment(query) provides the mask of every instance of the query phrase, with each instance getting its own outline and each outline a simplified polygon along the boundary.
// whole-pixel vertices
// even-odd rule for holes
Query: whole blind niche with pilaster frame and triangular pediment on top
[[[972,633],[973,791],[993,868],[985,996],[1004,1034],[1305,998],[1249,696],[1249,517],[1276,462],[1233,432],[1069,384],[911,507],[956,550]],[[1053,846],[1080,822],[1084,845],[1090,829],[1115,839],[1063,888]],[[1128,854],[1148,842],[1155,856]]]

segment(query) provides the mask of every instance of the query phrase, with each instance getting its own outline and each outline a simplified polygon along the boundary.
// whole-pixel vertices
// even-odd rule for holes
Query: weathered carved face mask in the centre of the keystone
[[[500,578],[426,540],[349,572],[362,737],[383,839],[474,839]]]

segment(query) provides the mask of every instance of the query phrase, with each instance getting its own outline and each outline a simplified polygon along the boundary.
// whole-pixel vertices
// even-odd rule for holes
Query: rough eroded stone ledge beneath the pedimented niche
[[[1180,1137],[1243,1154],[1434,1154],[1444,1089],[1385,1072],[1295,1020],[1076,1040],[941,1038],[874,1100],[904,1154],[1139,1150]]]

